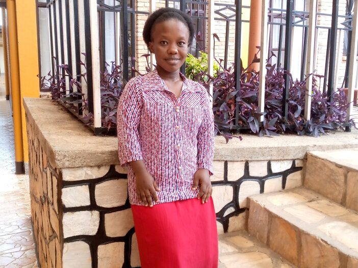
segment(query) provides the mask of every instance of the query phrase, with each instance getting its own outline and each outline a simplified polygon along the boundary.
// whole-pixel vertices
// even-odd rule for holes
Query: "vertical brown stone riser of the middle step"
[[[297,267],[316,267],[313,263],[317,263],[317,267],[358,267],[357,257],[342,252],[341,249],[329,244],[319,235],[305,231],[280,217],[260,201],[254,200],[252,196],[248,198],[248,207],[248,233]],[[271,233],[273,231],[272,224],[280,225],[283,228],[278,233]],[[314,248],[312,248],[313,245]],[[309,247],[311,247],[310,250],[308,250]],[[316,253],[316,256],[312,257],[309,253],[311,255]]]

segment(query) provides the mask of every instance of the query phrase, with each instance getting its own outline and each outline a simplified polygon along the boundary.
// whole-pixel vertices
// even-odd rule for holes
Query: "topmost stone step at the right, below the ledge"
[[[358,150],[308,153],[303,186],[358,211]]]

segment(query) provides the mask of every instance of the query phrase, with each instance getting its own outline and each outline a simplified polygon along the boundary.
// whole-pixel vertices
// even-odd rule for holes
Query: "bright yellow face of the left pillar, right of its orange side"
[[[16,0],[16,24],[20,72],[22,142],[24,162],[29,162],[23,98],[40,97],[39,55],[37,43],[37,1]]]

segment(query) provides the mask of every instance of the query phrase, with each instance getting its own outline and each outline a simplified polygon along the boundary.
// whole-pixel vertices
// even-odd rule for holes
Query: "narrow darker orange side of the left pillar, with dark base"
[[[11,73],[11,99],[14,120],[15,139],[15,165],[16,174],[24,173],[23,145],[22,145],[22,123],[21,123],[21,97],[19,82],[19,61],[17,54],[17,28],[16,7],[14,0],[7,0],[8,34],[9,34],[9,59]]]

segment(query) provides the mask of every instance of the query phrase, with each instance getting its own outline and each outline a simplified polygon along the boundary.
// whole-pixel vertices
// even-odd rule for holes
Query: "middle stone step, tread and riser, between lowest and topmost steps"
[[[247,225],[300,268],[358,267],[358,215],[310,189],[249,197]]]

